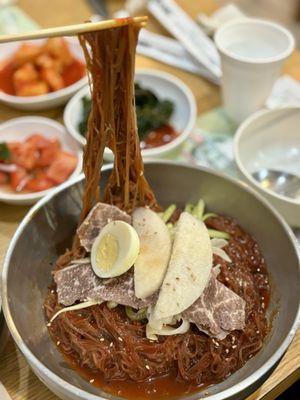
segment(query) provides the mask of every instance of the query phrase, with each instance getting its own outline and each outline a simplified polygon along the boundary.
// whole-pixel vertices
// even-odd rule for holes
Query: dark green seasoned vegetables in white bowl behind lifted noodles
[[[135,105],[139,137],[142,140],[147,133],[169,123],[174,105],[169,100],[159,100],[149,89],[135,84]],[[78,125],[79,132],[85,136],[87,121],[91,111],[91,100],[82,98],[83,115]]]

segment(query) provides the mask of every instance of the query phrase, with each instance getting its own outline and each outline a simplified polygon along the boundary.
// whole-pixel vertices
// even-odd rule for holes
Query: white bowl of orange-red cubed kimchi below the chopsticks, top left
[[[46,39],[26,41],[26,43],[40,44],[45,40]],[[75,38],[65,38],[65,40],[67,41],[72,54],[85,63],[79,41]],[[0,44],[0,63],[10,57],[18,47],[20,47],[19,42]],[[84,76],[70,86],[39,96],[13,96],[0,91],[0,101],[19,110],[44,110],[65,104],[70,97],[87,84],[87,81],[87,76]]]

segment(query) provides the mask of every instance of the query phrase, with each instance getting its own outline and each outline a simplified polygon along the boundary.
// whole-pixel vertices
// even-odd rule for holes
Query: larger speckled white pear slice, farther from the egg
[[[177,222],[170,263],[154,308],[154,318],[177,315],[191,306],[209,281],[212,262],[212,245],[205,224],[183,212]]]

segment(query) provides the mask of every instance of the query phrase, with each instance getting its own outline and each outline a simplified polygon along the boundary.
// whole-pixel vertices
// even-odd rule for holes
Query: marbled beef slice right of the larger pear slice
[[[229,332],[245,327],[245,301],[217,280],[213,270],[204,292],[183,312],[183,317],[211,337],[224,339]]]

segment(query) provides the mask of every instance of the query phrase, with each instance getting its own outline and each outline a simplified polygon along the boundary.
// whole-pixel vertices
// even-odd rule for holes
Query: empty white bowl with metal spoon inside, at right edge
[[[300,176],[299,126],[300,107],[262,110],[240,125],[234,139],[235,161],[243,178],[294,227],[300,227],[300,200],[263,188],[252,173],[269,168]]]

